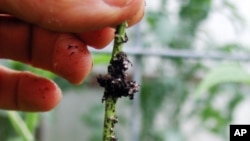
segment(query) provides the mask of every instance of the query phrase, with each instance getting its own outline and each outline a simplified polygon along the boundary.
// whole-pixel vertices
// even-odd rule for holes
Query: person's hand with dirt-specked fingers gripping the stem
[[[92,68],[87,46],[104,48],[113,27],[136,24],[143,11],[144,0],[0,0],[0,58],[81,84]],[[52,80],[0,66],[0,109],[48,111],[61,93]]]

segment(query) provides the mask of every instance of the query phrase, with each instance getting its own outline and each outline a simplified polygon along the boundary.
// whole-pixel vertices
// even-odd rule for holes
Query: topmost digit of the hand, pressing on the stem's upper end
[[[0,11],[50,30],[83,32],[131,24],[143,15],[144,0],[0,1]]]

